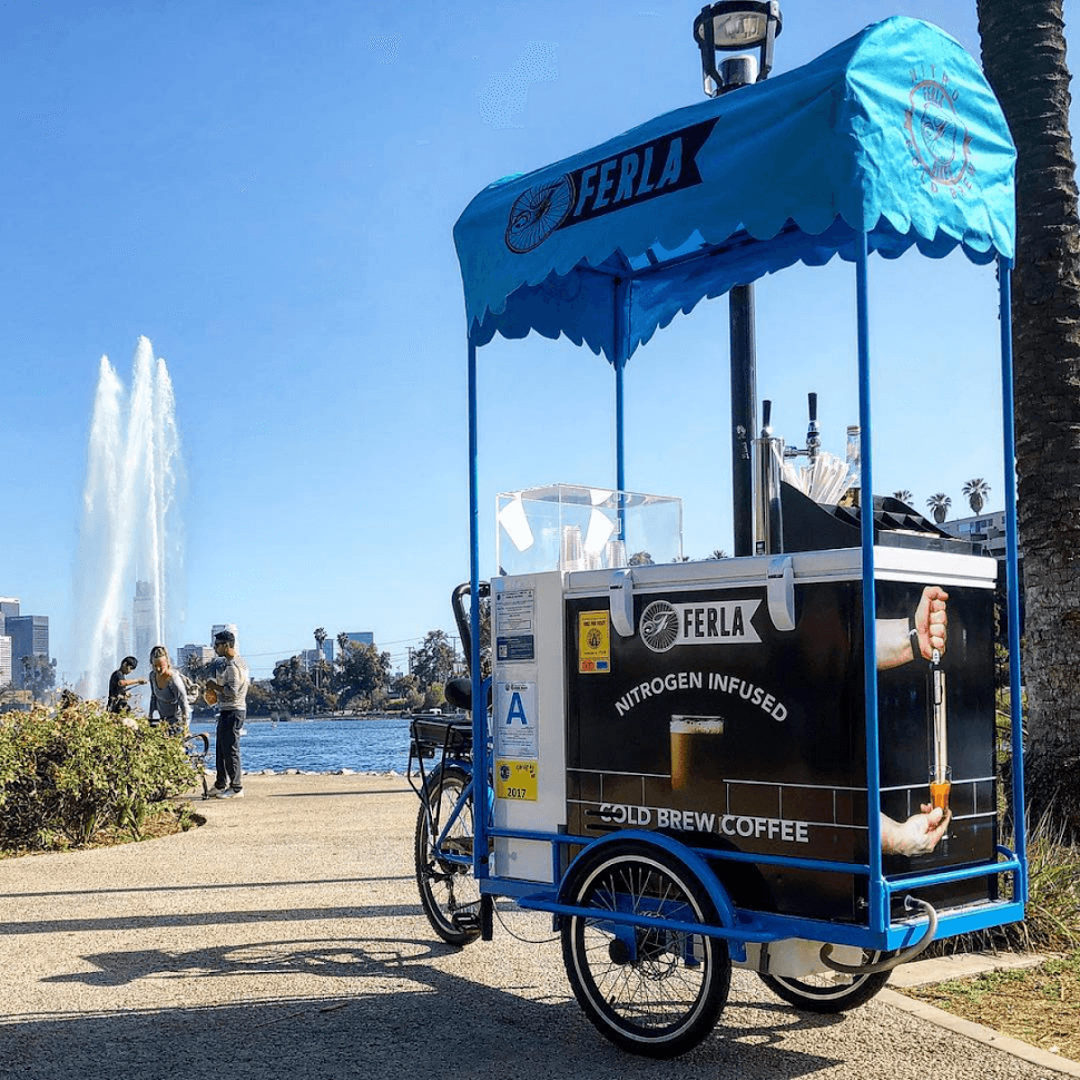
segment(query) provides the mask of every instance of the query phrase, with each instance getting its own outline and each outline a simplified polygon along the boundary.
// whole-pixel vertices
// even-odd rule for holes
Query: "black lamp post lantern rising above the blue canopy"
[[[694,40],[701,50],[705,92],[715,98],[748,82],[760,82],[773,67],[773,41],[783,29],[777,0],[721,0],[701,8]],[[757,56],[754,56],[757,50]],[[717,52],[733,52],[719,68]]]

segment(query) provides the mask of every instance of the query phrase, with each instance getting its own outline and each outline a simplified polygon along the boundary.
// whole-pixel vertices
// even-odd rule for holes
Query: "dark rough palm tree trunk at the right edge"
[[[1017,143],[1013,352],[1029,812],[1080,837],[1080,227],[1062,0],[978,0]]]

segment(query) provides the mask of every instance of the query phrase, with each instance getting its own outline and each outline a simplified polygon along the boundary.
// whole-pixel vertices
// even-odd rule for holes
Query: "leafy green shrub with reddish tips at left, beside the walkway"
[[[187,791],[195,768],[178,738],[132,729],[94,701],[0,717],[0,848],[87,844],[99,828],[138,837],[151,803]]]

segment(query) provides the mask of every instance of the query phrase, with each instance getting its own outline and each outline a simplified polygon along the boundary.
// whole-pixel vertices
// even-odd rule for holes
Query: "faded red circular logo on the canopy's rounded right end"
[[[913,73],[910,107],[904,110],[912,166],[924,174],[932,192],[944,187],[954,198],[971,188],[971,175],[975,171],[971,164],[971,134],[956,109],[959,97],[960,91],[950,86],[945,71],[930,78]]]

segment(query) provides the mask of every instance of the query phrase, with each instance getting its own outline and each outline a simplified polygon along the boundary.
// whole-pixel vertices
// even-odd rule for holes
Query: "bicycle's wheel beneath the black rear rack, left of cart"
[[[421,803],[416,819],[420,902],[432,929],[451,945],[468,945],[480,936],[480,886],[472,875],[472,866],[440,858],[435,851],[435,842],[468,783],[469,774],[464,769],[444,768],[432,773],[425,788],[426,803]],[[472,829],[470,795],[443,840],[442,853],[471,856]]]

